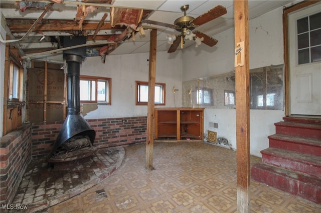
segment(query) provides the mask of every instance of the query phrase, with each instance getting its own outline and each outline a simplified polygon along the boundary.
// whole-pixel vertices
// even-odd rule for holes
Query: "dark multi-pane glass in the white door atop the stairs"
[[[298,64],[321,61],[321,12],[296,20]]]

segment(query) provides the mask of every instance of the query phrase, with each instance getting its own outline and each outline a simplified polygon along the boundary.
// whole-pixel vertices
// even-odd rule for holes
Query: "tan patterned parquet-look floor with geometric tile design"
[[[237,212],[236,151],[205,142],[125,146],[125,160],[101,183],[47,212]],[[261,158],[251,156],[251,164]],[[251,212],[321,212],[321,205],[251,181]]]

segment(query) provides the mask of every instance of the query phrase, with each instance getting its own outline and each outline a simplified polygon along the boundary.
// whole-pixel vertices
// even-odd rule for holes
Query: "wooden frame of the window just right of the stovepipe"
[[[89,76],[89,75],[80,75],[80,80],[91,80],[95,81],[95,100],[80,100],[80,103],[97,103],[97,104],[105,104],[111,105],[111,78],[110,77],[98,77],[98,76]],[[98,81],[106,81],[108,82],[108,101],[98,101]],[[91,92],[90,92],[91,93]]]

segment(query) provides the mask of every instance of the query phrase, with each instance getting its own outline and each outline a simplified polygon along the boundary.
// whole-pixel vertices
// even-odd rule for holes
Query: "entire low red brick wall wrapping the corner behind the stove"
[[[144,142],[147,117],[89,119],[97,148]],[[45,159],[63,121],[23,124],[0,140],[1,204],[10,204],[31,158]]]

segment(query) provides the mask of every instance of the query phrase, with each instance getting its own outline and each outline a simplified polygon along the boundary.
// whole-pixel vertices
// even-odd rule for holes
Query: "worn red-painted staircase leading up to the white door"
[[[283,117],[252,179],[321,204],[321,119]]]

